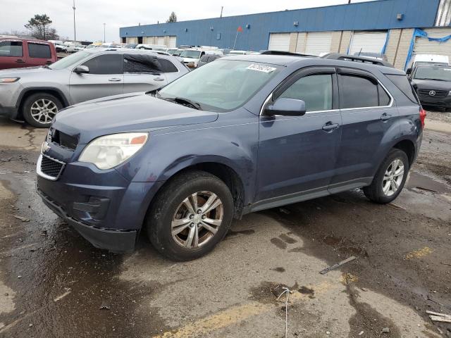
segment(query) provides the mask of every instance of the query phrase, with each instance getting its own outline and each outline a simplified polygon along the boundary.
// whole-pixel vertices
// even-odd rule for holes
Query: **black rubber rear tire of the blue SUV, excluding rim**
[[[383,177],[385,175],[385,171],[387,170],[390,163],[395,161],[395,159],[399,159],[404,164],[404,177],[402,177],[402,182],[400,187],[397,189],[395,194],[392,196],[386,196],[382,191],[383,186]],[[407,176],[409,174],[409,159],[404,151],[400,149],[391,149],[388,153],[387,157],[383,160],[381,166],[379,167],[376,175],[373,178],[373,182],[368,187],[364,187],[365,196],[378,204],[387,204],[397,198],[397,196],[402,192],[402,188],[407,180]]]

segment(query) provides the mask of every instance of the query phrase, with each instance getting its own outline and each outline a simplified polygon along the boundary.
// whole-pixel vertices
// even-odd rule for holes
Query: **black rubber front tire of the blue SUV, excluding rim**
[[[223,222],[209,242],[198,249],[184,249],[175,243],[171,221],[183,200],[199,191],[214,192],[223,202]],[[218,177],[201,170],[192,170],[175,176],[154,198],[146,220],[147,235],[152,245],[163,256],[173,261],[190,261],[204,256],[226,236],[233,218],[233,197],[227,185]]]

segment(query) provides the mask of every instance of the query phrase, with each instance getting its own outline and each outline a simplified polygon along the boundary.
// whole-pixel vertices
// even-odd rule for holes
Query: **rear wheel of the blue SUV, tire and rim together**
[[[398,170],[400,170],[400,165],[402,163],[402,177],[396,175],[400,171],[395,169],[393,173],[393,163],[399,161],[396,165]],[[390,172],[390,173],[389,173]],[[401,193],[402,188],[407,180],[407,174],[409,173],[409,159],[404,151],[400,149],[392,149],[388,153],[387,157],[383,160],[381,166],[379,167],[376,175],[373,178],[373,182],[368,187],[364,187],[365,196],[379,204],[387,204],[395,200],[397,196]],[[385,176],[385,174],[388,174]],[[388,178],[388,180],[386,179]],[[390,183],[393,182],[393,183]],[[388,190],[384,187],[388,187]]]

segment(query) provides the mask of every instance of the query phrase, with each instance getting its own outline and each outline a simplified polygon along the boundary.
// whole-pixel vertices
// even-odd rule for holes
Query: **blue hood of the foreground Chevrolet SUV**
[[[106,134],[209,123],[217,118],[218,113],[198,111],[145,93],[131,93],[70,106],[55,116],[52,127],[87,144]]]

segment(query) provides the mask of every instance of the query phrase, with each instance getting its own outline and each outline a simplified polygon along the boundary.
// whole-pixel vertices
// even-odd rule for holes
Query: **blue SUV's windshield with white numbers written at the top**
[[[183,98],[207,111],[231,111],[245,104],[276,73],[278,66],[248,61],[206,63],[161,89],[161,99]]]

